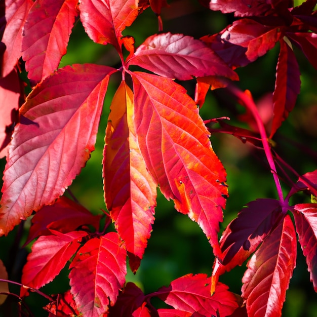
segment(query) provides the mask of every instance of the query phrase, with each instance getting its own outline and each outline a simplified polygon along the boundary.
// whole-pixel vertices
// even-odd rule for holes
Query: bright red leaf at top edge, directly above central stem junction
[[[122,31],[141,12],[135,0],[82,0],[79,8],[89,37],[96,43],[112,44],[118,50]]]

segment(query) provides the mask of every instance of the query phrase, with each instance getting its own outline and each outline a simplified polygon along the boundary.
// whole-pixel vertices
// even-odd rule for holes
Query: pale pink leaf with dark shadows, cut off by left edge
[[[11,134],[18,122],[20,81],[16,70],[0,79],[0,158],[8,153]]]

